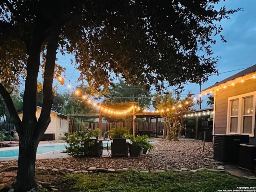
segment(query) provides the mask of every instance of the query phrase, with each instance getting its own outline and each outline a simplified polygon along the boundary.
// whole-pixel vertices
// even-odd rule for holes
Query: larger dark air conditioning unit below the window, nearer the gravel
[[[214,135],[213,158],[222,162],[237,163],[239,161],[239,148],[242,143],[249,143],[249,135]]]

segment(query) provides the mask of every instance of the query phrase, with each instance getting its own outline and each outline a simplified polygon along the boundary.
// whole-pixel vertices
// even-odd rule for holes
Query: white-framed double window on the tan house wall
[[[228,98],[227,134],[254,136],[256,91]]]

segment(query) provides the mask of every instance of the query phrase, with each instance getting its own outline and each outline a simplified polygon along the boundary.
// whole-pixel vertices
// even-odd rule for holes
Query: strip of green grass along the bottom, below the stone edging
[[[63,192],[217,192],[256,186],[255,180],[221,172],[69,174],[57,184]]]

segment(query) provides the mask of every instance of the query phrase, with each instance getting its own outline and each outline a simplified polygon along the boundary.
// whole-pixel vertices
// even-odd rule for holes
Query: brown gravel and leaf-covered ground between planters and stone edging
[[[72,168],[74,170],[88,170],[90,166],[97,168],[135,168],[137,170],[173,170],[187,168],[217,168],[217,164],[212,160],[212,142],[205,142],[204,152],[202,151],[203,142],[194,139],[180,139],[179,141],[169,141],[155,139],[154,148],[148,155],[139,158],[56,158],[38,159],[36,167],[46,168]],[[211,163],[212,162],[212,163]],[[6,168],[17,165],[16,160],[0,162]]]

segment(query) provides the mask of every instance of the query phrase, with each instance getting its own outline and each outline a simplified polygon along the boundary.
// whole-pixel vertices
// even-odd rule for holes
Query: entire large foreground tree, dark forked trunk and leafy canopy
[[[74,55],[95,92],[115,77],[163,88],[204,82],[216,73],[212,57],[217,22],[240,10],[215,8],[220,0],[0,0],[0,94],[18,131],[16,191],[36,186],[36,149],[50,123],[56,52]],[[43,102],[36,118],[40,59],[45,56]],[[10,92],[25,80],[23,117]],[[92,92],[94,93],[94,92]]]

